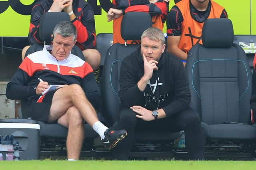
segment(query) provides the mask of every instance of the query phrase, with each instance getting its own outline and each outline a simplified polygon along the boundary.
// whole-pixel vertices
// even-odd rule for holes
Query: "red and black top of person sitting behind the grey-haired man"
[[[28,33],[28,41],[30,45],[42,43],[39,38],[38,30],[42,15],[48,12],[52,6],[53,0],[38,0],[31,11],[30,28]],[[92,6],[84,0],[73,0],[73,11],[76,18],[71,21],[77,30],[78,47],[84,49],[92,49],[96,45],[95,21]]]

